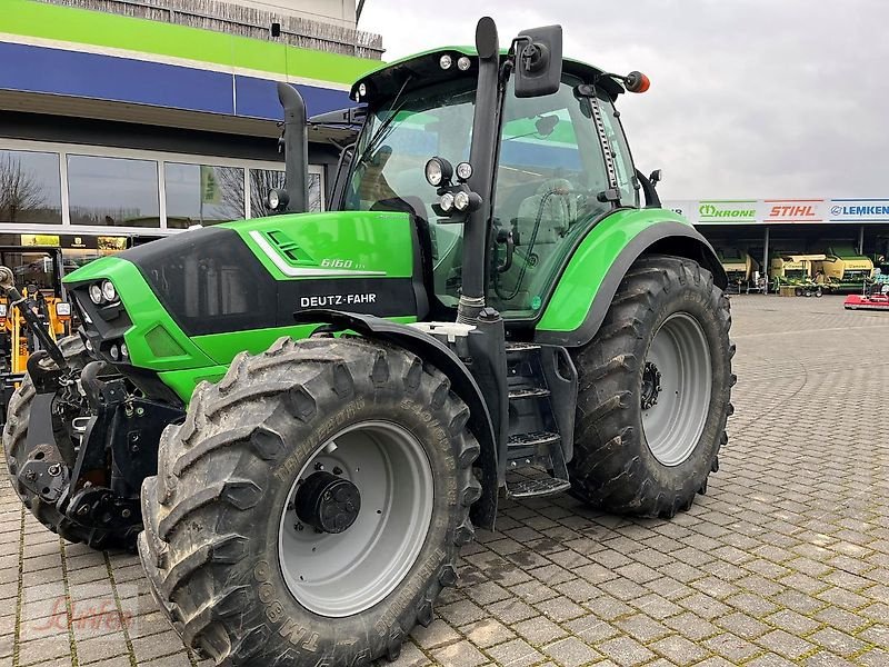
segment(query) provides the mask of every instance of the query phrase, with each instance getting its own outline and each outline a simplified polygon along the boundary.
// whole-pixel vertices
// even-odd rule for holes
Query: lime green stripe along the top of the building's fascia
[[[0,32],[333,83],[352,83],[380,64],[378,60],[33,0],[0,0]]]

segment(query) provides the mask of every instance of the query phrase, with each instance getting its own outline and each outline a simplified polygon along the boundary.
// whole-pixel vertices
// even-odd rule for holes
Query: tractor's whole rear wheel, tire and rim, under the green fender
[[[648,256],[632,266],[575,356],[577,496],[671,517],[706,491],[732,412],[730,326],[728,299],[697,262]]]

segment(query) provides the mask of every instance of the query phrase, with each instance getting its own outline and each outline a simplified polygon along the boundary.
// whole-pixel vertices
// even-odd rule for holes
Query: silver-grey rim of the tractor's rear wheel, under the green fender
[[[655,335],[642,370],[642,430],[658,461],[685,462],[703,432],[712,391],[710,348],[693,317],[676,312]]]

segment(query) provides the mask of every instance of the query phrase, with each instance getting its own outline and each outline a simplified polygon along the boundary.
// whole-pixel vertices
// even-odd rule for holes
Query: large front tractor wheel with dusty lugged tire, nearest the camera
[[[199,386],[139,540],[186,643],[226,665],[394,659],[473,535],[468,418],[440,371],[362,339],[281,339]]]

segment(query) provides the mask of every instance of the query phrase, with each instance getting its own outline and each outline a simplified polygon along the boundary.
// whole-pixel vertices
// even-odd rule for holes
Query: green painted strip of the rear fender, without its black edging
[[[640,232],[659,222],[691,225],[663,209],[623,209],[599,222],[581,241],[537,326],[538,331],[573,331],[583,323],[608,269]]]

